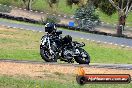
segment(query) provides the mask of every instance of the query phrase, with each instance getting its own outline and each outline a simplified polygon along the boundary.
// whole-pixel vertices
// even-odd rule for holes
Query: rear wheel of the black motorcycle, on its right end
[[[88,64],[90,63],[90,56],[89,54],[82,48],[79,48],[80,55],[75,56],[74,59],[79,64]]]

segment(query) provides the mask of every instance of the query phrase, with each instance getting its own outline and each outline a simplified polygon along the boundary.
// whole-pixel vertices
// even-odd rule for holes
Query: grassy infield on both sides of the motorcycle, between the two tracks
[[[40,61],[39,44],[43,34],[44,33],[21,29],[1,29],[0,58]],[[84,48],[90,54],[92,63],[132,64],[132,49],[81,39],[74,40],[84,42],[86,44]]]

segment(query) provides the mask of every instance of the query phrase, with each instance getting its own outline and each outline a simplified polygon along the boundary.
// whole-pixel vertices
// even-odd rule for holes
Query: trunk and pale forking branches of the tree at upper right
[[[118,36],[121,36],[128,13],[132,10],[132,0],[109,0],[109,2],[113,7],[116,8],[118,12],[119,22],[117,27],[117,34]]]

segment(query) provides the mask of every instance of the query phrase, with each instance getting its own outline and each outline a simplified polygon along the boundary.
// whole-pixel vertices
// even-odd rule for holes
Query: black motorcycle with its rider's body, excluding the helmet
[[[42,36],[40,44],[40,55],[44,61],[57,62],[60,59],[68,63],[90,63],[89,54],[82,48],[84,43],[72,41],[70,35],[62,37],[62,31],[45,29],[45,32],[47,34]]]

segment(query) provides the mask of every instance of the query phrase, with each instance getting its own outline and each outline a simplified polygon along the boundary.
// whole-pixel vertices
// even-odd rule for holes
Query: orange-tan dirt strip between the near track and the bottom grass
[[[77,69],[78,67],[74,66],[0,62],[0,75],[9,76],[26,75],[33,78],[61,79],[61,77],[64,76],[65,78],[68,78],[68,76],[75,77]],[[91,67],[84,67],[84,70],[87,74],[130,74],[132,76],[132,70],[115,70]]]

